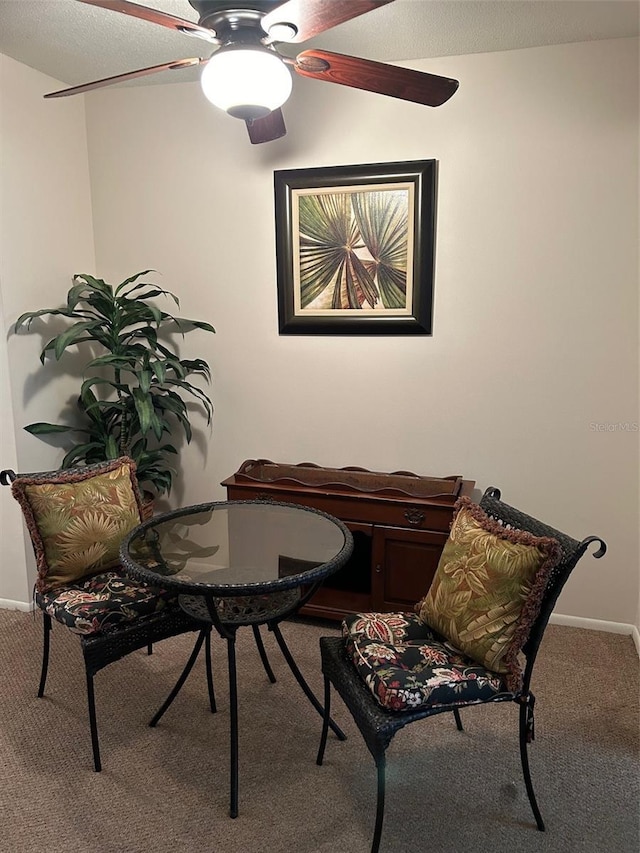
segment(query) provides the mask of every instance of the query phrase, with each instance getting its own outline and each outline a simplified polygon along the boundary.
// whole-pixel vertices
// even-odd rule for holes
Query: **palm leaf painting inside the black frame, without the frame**
[[[300,306],[405,309],[409,190],[301,194]]]

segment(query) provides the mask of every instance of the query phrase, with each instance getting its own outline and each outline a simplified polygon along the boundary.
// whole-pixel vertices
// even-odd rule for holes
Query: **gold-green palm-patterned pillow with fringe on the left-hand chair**
[[[127,457],[18,477],[11,486],[36,555],[39,592],[118,565],[120,543],[140,523],[136,466]]]

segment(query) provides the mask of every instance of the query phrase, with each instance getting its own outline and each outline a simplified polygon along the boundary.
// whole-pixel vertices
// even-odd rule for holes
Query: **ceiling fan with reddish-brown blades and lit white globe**
[[[404,101],[438,107],[458,88],[458,81],[326,50],[304,50],[295,58],[278,44],[307,41],[332,27],[385,6],[393,0],[188,0],[198,23],[140,6],[128,0],[78,0],[194,36],[215,45],[207,57],[192,57],[140,68],[58,92],[45,98],[76,95],[159,71],[204,66],[205,96],[229,115],[246,122],[253,143],[284,136],[280,107],[291,94],[287,66],[328,83],[377,92]]]

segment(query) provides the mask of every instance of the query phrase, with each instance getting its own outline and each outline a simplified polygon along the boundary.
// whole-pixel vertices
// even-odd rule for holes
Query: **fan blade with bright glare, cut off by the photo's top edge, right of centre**
[[[387,3],[393,3],[393,0],[331,0],[329,3],[327,0],[288,0],[264,16],[262,28],[268,33],[276,24],[292,24],[296,29],[295,36],[283,38],[282,41],[307,41]],[[281,40],[275,30],[273,38],[275,41]]]

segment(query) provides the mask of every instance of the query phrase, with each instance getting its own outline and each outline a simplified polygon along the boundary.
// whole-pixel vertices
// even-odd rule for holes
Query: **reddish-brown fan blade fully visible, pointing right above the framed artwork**
[[[444,104],[459,85],[457,80],[450,77],[438,77],[328,50],[305,50],[298,54],[293,67],[303,77],[377,92],[428,107]]]

